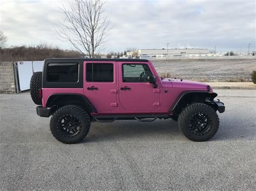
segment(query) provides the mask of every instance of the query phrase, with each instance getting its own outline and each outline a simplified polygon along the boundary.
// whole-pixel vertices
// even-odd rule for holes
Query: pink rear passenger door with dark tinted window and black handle
[[[84,95],[96,110],[116,110],[116,61],[84,61],[84,76]]]

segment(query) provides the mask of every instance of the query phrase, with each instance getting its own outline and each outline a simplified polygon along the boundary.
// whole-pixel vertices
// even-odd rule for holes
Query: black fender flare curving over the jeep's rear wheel
[[[54,103],[61,98],[64,97],[72,97],[72,98],[77,98],[81,101],[83,101],[83,103],[85,105],[87,105],[90,109],[90,112],[95,112],[97,113],[97,110],[95,109],[95,107],[92,105],[92,103],[89,101],[89,99],[87,97],[85,97],[83,94],[76,94],[76,93],[57,93],[57,94],[52,94],[47,102],[46,102],[46,107],[53,107]]]

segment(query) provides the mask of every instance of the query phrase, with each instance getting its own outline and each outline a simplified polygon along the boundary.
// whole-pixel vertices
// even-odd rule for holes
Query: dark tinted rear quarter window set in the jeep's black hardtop
[[[78,63],[49,63],[48,82],[78,82]]]

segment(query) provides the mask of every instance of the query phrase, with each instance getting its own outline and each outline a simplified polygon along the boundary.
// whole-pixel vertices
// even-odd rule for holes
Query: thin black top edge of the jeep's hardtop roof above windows
[[[121,61],[121,62],[147,62],[146,59],[110,59],[110,58],[49,58],[45,61]]]

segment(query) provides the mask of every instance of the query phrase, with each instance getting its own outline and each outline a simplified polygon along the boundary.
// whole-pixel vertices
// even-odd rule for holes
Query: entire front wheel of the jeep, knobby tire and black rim
[[[204,103],[193,103],[181,111],[178,126],[188,139],[204,142],[217,133],[219,117],[210,106]]]

